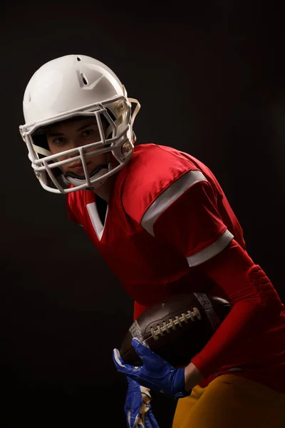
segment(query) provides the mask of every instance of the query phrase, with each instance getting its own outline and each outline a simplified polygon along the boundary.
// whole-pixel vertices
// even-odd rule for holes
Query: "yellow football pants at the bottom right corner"
[[[285,394],[224,374],[178,400],[172,428],[285,428]]]

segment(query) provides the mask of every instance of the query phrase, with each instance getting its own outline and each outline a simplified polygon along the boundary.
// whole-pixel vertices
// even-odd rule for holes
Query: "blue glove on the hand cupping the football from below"
[[[185,391],[185,369],[175,369],[169,362],[152,352],[136,337],[133,337],[132,345],[142,360],[142,366],[128,365],[120,357],[119,350],[113,350],[113,361],[118,372],[123,373],[143,387],[160,391],[175,398],[187,397],[190,391]]]

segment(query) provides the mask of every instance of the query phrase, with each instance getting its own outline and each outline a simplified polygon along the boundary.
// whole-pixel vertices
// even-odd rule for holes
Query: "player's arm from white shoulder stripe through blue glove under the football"
[[[185,369],[163,367],[167,379],[164,385],[167,383],[168,392],[176,397],[182,387],[189,392],[224,364],[242,365],[244,358],[247,360],[244,364],[250,361],[254,364],[259,350],[252,346],[252,339],[269,330],[283,307],[268,277],[244,250],[242,230],[235,226],[237,218],[225,205],[221,206],[222,203],[223,195],[214,183],[209,183],[198,171],[190,170],[152,199],[138,219],[148,233],[176,248],[185,258],[190,272],[202,272],[211,277],[221,295],[232,303],[232,312]],[[195,291],[195,283],[191,287],[190,282],[189,286],[190,291]],[[253,336],[254,333],[257,335]],[[118,361],[117,367],[134,375],[139,382],[145,382],[145,386],[154,388],[156,385],[159,390],[163,389],[161,376],[157,375],[157,367],[163,366],[163,362],[148,355],[147,348],[137,346],[140,355],[145,354],[146,358],[142,370],[133,373],[130,367]],[[238,352],[241,349],[244,350],[242,358]],[[251,354],[255,360],[254,357],[251,360]],[[152,367],[150,360],[154,361]],[[170,372],[172,379],[169,379]],[[184,380],[182,384],[182,373],[185,384]]]

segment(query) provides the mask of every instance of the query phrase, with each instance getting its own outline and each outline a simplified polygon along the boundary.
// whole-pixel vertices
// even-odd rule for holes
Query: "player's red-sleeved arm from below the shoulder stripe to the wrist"
[[[235,355],[241,342],[249,343],[254,332],[269,327],[283,305],[264,271],[236,240],[219,245],[227,226],[209,183],[195,184],[167,206],[155,220],[153,231],[157,238],[175,245],[191,269],[211,277],[232,304],[230,314],[186,369],[186,374],[199,370],[207,378],[227,364],[229,354]]]

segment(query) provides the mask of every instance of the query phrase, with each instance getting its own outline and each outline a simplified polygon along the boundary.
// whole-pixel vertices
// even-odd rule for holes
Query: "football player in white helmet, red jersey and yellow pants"
[[[140,103],[95,58],[66,55],[43,64],[23,107],[20,132],[39,183],[65,195],[69,218],[133,297],[134,319],[187,290],[232,305],[187,367],[172,367],[136,338],[141,367],[113,351],[128,379],[128,427],[157,427],[152,390],[177,399],[173,428],[283,426],[284,305],[247,253],[212,171],[175,148],[135,145]]]

